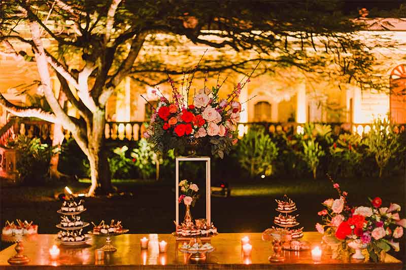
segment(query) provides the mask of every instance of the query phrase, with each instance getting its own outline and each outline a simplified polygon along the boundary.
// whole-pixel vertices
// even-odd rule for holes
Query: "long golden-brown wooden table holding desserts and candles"
[[[104,260],[95,261],[95,249],[105,245],[105,237],[94,237],[90,246],[81,248],[59,246],[60,254],[52,259],[49,249],[56,244],[55,235],[36,235],[23,242],[24,252],[30,259],[23,266],[10,265],[7,260],[16,254],[15,245],[0,252],[0,270],[3,269],[402,269],[402,262],[387,255],[383,263],[341,261],[323,254],[320,262],[312,260],[311,251],[283,251],[286,259],[281,263],[270,263],[272,243],[262,241],[261,233],[219,234],[212,238],[215,250],[208,253],[205,262],[190,263],[188,255],[178,250],[183,241],[176,241],[170,234],[158,235],[159,241],[168,243],[167,252],[143,250],[140,239],[147,234],[126,234],[111,237],[116,252],[106,253]],[[241,238],[248,236],[252,244],[250,256],[243,256]],[[304,233],[303,240],[311,246],[319,245],[321,235]]]

